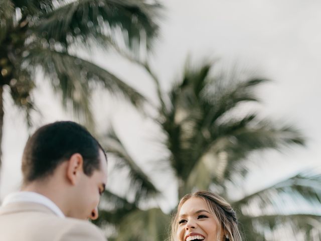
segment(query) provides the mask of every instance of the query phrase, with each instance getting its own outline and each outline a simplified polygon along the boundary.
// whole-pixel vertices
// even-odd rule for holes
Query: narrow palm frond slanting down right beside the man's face
[[[149,177],[141,170],[135,161],[127,153],[124,145],[111,128],[107,135],[101,138],[104,148],[108,153],[117,157],[118,166],[129,169],[130,190],[135,192],[135,201],[153,196],[158,193],[157,188],[149,180]]]

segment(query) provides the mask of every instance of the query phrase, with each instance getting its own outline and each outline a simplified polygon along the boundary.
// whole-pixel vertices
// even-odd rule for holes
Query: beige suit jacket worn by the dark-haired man
[[[106,241],[92,223],[61,218],[44,205],[8,203],[0,208],[0,241]]]

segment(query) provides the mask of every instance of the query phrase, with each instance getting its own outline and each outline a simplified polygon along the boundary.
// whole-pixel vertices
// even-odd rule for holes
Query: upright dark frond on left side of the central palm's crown
[[[164,121],[161,119],[160,124],[168,138],[165,145],[172,155],[171,165],[182,180],[188,178],[195,164],[193,151],[197,147],[194,145],[202,145],[199,142],[191,145],[191,139],[195,134],[193,118],[199,118],[197,98],[206,85],[211,67],[212,65],[206,62],[199,68],[191,68],[187,61],[183,80],[174,84],[169,93],[171,102],[167,108],[163,108]]]

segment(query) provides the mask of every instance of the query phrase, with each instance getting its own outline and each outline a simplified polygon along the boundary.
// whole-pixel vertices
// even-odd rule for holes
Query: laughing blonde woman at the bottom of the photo
[[[241,241],[237,224],[234,210],[222,197],[198,191],[181,199],[171,241]]]

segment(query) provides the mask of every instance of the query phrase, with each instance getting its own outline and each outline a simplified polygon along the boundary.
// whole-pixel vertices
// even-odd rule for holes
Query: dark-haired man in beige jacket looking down
[[[0,240],[106,240],[85,220],[98,217],[107,179],[106,155],[85,128],[56,122],[38,129],[26,144],[22,172],[22,191],[0,208]]]

